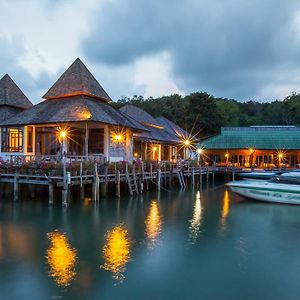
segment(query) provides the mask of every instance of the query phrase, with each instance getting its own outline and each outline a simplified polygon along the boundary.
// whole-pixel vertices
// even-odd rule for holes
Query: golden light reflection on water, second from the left
[[[131,259],[131,242],[128,231],[120,224],[106,233],[102,254],[104,264],[100,267],[113,273],[113,278],[122,282],[126,264]]]

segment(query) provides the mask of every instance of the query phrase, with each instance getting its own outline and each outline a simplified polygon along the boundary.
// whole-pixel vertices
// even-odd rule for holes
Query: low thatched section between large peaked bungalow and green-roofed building
[[[179,155],[186,158],[182,143],[189,135],[185,130],[166,118],[155,119],[131,104],[126,104],[119,110],[146,129],[133,134],[135,157],[157,161],[176,161]]]

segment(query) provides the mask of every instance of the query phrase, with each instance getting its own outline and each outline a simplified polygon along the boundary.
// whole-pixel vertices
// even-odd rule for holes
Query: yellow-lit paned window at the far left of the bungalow
[[[23,151],[23,129],[22,128],[2,128],[1,130],[2,152],[22,152]]]

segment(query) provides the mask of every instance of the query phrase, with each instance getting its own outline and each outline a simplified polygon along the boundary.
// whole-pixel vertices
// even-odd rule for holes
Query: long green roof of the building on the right
[[[220,135],[203,141],[200,147],[205,149],[300,150],[300,127],[222,127]]]

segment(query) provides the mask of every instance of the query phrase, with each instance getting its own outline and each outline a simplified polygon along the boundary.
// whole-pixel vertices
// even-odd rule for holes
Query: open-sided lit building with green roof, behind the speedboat
[[[300,166],[300,127],[223,127],[221,134],[200,144],[208,163],[237,167]]]

